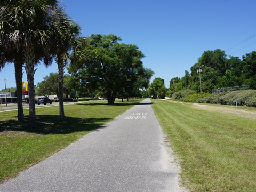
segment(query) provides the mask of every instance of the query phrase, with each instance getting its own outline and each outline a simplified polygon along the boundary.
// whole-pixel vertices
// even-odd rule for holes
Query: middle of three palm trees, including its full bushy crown
[[[52,62],[53,46],[61,47],[63,39],[63,9],[57,0],[5,0],[1,11],[1,45],[6,52],[22,50],[28,81],[29,128],[36,128],[34,74],[40,60]],[[11,50],[10,48],[11,47]]]

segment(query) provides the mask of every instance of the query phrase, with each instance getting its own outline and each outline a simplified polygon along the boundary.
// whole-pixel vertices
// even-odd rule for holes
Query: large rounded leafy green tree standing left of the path
[[[131,88],[143,70],[143,53],[137,45],[118,43],[116,35],[91,35],[86,39],[88,57],[71,63],[70,73],[83,77],[81,84],[87,89],[105,93],[108,105],[115,102],[118,91]]]

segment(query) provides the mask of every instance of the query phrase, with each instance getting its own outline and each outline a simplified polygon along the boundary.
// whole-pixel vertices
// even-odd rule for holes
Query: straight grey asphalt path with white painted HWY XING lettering
[[[145,99],[1,184],[0,191],[182,191],[164,139]]]

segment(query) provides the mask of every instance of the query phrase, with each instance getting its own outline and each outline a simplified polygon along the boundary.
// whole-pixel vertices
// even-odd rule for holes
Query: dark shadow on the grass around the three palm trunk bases
[[[3,131],[25,131],[37,134],[69,134],[79,131],[92,131],[100,127],[103,129],[104,122],[110,118],[74,118],[66,117],[64,122],[60,122],[58,115],[39,115],[36,117],[36,130],[28,129],[28,116],[25,116],[25,123],[20,124],[14,120],[2,121],[0,132]]]

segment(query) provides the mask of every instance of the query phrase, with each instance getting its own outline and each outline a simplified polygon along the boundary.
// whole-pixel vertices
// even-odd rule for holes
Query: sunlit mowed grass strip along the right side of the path
[[[191,103],[151,101],[179,158],[183,185],[190,191],[256,191],[255,118]]]

